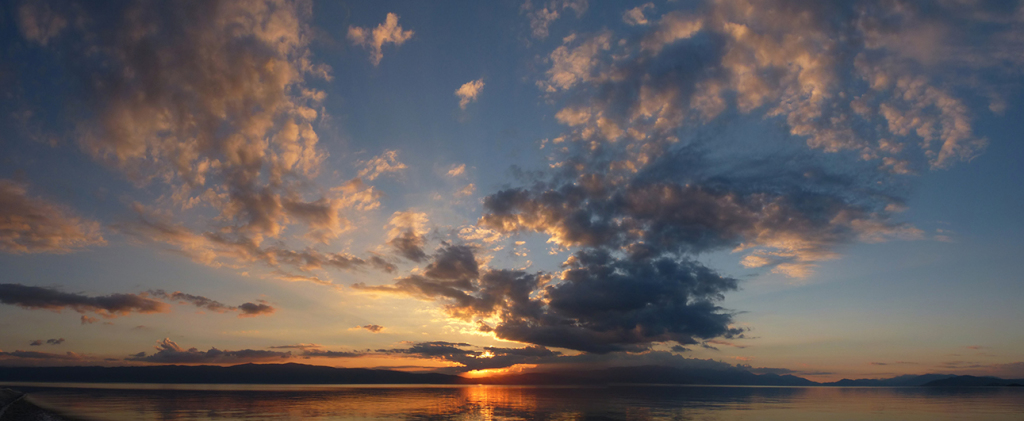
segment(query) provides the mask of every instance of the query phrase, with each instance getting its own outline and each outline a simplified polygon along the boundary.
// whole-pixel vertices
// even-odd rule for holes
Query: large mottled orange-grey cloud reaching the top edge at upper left
[[[214,208],[222,230],[279,236],[284,202],[301,196],[290,180],[326,158],[312,129],[324,95],[304,82],[330,76],[309,58],[304,7],[130,4],[112,10],[116,22],[88,20],[96,53],[82,59],[106,65],[76,68],[108,83],[90,84],[96,118],[79,124],[83,150],[138,182],[164,180],[184,207]]]

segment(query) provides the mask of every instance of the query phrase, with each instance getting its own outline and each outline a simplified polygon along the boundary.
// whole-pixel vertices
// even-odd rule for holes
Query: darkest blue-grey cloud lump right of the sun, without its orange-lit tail
[[[604,251],[585,251],[566,262],[562,279],[545,287],[550,299],[545,314],[506,319],[495,333],[591,352],[742,333],[729,328],[731,315],[714,304],[736,289],[736,281],[695,262],[616,259]]]

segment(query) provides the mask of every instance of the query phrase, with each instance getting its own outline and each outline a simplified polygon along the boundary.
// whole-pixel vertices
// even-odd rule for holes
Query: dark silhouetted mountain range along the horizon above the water
[[[438,373],[343,369],[302,364],[143,367],[0,367],[0,382],[233,383],[233,384],[708,384],[751,386],[1020,386],[1024,379],[906,375],[890,379],[843,379],[817,383],[802,377],[728,370],[644,366],[592,371],[553,371],[465,378]]]

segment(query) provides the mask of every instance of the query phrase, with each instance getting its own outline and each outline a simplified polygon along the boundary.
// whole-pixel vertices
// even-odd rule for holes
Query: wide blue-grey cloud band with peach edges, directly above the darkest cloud
[[[836,245],[919,236],[912,226],[889,221],[891,213],[881,209],[898,199],[885,192],[868,196],[870,186],[857,187],[863,198],[850,198],[847,188],[855,180],[842,174],[752,164],[745,171],[765,171],[753,182],[734,167],[717,169],[700,156],[688,150],[652,158],[637,174],[602,173],[601,167],[613,165],[604,162],[590,164],[593,169],[580,165],[583,171],[561,174],[574,176],[571,182],[486,197],[479,224],[503,234],[543,233],[565,248],[628,250],[639,258],[746,252],[752,256],[743,259],[745,266],[796,277],[835,258]],[[679,162],[687,164],[670,167]]]

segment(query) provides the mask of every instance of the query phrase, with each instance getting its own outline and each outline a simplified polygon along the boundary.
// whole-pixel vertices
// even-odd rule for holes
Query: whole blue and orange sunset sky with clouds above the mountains
[[[3,2],[0,364],[1024,377],[1024,4]]]

